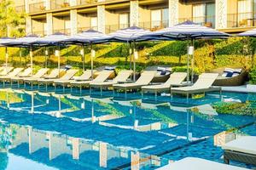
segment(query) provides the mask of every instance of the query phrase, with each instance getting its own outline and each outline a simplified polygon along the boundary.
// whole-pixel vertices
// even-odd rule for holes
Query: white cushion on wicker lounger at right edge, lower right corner
[[[245,136],[230,141],[229,143],[224,144],[222,149],[256,155],[256,136]]]

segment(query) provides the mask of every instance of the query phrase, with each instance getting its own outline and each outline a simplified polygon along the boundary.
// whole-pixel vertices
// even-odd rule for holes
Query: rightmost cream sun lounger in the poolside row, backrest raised
[[[219,91],[221,93],[221,88],[213,88],[212,83],[218,77],[218,73],[203,73],[199,76],[198,80],[194,85],[182,88],[171,88],[172,94],[186,94],[187,99],[189,99],[189,94],[200,94],[206,92]]]

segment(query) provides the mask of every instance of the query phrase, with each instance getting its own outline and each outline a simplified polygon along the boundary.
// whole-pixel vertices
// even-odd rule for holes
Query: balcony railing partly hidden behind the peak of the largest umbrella
[[[201,26],[207,26],[215,28],[215,15],[212,16],[201,16],[201,17],[190,17],[190,18],[180,18],[178,19],[178,23],[182,23],[186,20],[191,20],[196,24],[200,24]]]

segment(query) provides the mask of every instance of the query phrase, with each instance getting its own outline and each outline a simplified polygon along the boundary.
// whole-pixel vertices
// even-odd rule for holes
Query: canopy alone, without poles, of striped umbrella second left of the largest
[[[61,43],[76,43],[76,44],[90,44],[99,42],[108,42],[112,36],[103,34],[100,31],[87,30],[83,31],[77,35],[68,37],[61,41]]]

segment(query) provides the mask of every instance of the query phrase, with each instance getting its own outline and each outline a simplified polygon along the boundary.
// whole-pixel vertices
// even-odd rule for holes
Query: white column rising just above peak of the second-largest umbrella
[[[138,25],[139,25],[139,3],[138,3],[138,0],[131,0],[131,2],[130,2],[130,26],[138,26]]]

